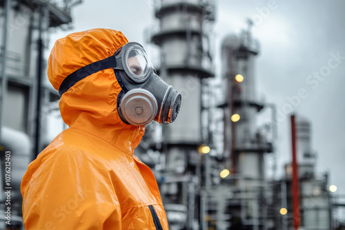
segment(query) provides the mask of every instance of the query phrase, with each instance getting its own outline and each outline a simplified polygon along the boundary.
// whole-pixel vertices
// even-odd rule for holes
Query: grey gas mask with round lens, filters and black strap
[[[159,78],[139,43],[127,43],[114,55],[68,75],[59,88],[60,96],[86,76],[108,68],[114,70],[121,86],[117,111],[124,123],[139,126],[151,121],[163,124],[175,121],[181,107],[181,94]]]

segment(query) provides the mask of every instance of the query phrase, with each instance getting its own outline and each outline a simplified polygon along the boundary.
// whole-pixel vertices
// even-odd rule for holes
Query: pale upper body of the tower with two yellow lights
[[[258,43],[248,32],[227,36],[222,43],[222,77],[226,89],[224,107],[224,157],[237,174],[264,178],[263,153],[270,151],[264,136],[257,132],[256,116],[264,107],[257,102],[255,59]],[[237,79],[236,76],[241,75]],[[239,115],[233,122],[231,117]]]

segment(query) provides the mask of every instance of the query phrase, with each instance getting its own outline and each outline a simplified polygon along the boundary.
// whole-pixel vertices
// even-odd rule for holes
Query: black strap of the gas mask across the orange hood
[[[63,80],[63,82],[61,83],[59,87],[60,96],[62,96],[64,92],[69,90],[70,87],[75,85],[75,83],[77,83],[81,79],[85,79],[86,76],[90,76],[91,74],[95,74],[101,70],[106,70],[115,66],[116,66],[115,55],[112,55],[101,61],[96,61],[94,63],[81,67],[79,70],[72,72],[72,74],[68,75],[66,79]]]

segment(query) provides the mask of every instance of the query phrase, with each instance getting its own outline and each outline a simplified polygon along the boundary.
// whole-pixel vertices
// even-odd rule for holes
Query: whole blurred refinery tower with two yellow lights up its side
[[[230,35],[222,43],[222,77],[226,85],[224,104],[224,164],[230,169],[233,198],[227,210],[233,227],[265,229],[264,153],[272,145],[256,125],[264,105],[257,101],[255,58],[257,41],[249,31]],[[231,229],[231,228],[230,228]]]

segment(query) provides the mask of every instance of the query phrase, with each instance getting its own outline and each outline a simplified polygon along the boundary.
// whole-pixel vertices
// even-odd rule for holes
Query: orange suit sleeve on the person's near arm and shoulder
[[[51,155],[24,175],[25,229],[121,229],[119,200],[107,170],[87,154]]]

